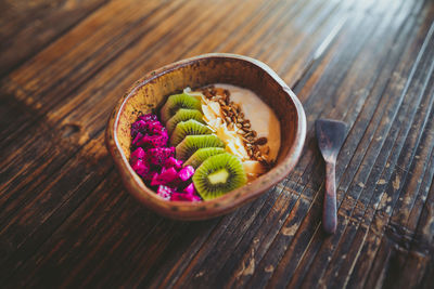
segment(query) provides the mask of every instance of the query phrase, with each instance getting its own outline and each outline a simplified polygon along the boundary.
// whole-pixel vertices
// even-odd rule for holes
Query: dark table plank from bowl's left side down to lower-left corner
[[[87,194],[94,189],[99,183],[95,180],[106,174],[106,170],[97,168],[112,168],[106,152],[101,149],[101,142],[102,137],[90,142],[82,152],[68,160],[64,169],[53,173],[53,180],[38,187],[35,192],[37,197],[21,209],[26,214],[13,215],[11,222],[2,228],[1,280],[4,281],[27,260]]]

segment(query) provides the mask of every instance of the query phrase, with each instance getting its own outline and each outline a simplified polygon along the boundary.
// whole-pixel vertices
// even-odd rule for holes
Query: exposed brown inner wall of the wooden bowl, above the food
[[[267,71],[256,65],[235,58],[203,58],[155,74],[135,87],[120,111],[117,137],[129,159],[130,127],[138,114],[156,113],[168,95],[213,83],[229,83],[254,91],[276,113],[281,126],[281,147],[277,165],[281,163],[294,142],[297,130],[297,111],[288,92]],[[258,108],[260,109],[260,108]]]

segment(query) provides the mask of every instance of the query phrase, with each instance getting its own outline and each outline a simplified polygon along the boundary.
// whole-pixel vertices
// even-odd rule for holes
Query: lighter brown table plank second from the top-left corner
[[[0,147],[10,144],[24,131],[43,121],[50,109],[59,110],[61,106],[71,109],[64,102],[68,101],[80,86],[143,34],[157,27],[161,21],[180,8],[182,1],[165,3],[146,1],[145,5],[136,9],[128,1],[113,1],[75,27],[67,37],[59,39],[31,62],[3,79],[0,91],[14,95],[16,102],[30,113],[26,114],[24,123],[10,123],[4,119],[10,124],[4,132],[8,137],[1,140]],[[176,15],[181,16],[182,11]],[[152,45],[153,42],[148,44]],[[50,69],[46,69],[47,64],[51,65]]]

